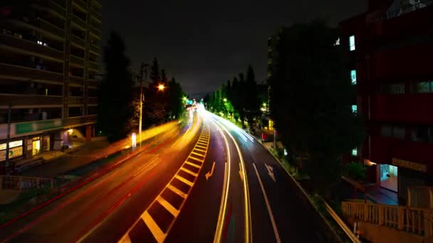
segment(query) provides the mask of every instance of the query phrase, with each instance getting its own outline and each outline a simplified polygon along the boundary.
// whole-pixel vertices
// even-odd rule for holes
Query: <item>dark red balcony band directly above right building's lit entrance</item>
[[[433,169],[433,144],[431,143],[372,136],[370,148],[370,161],[375,163],[392,164],[392,158],[398,158],[425,164],[427,165],[427,170],[430,172]]]

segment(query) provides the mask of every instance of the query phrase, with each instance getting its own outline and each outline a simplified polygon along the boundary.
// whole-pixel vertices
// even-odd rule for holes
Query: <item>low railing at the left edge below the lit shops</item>
[[[0,190],[28,190],[32,188],[53,187],[54,180],[51,178],[0,175]]]

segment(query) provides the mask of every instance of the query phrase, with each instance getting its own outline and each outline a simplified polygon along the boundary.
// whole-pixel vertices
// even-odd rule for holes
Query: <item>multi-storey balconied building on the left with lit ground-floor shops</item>
[[[100,0],[0,4],[0,168],[5,166],[9,111],[12,166],[71,146],[75,130],[92,136],[101,8]]]

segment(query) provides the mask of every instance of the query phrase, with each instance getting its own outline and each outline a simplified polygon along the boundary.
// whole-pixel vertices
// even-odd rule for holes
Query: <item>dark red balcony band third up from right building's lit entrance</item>
[[[372,80],[413,80],[432,77],[433,45],[410,45],[373,53],[370,58]]]

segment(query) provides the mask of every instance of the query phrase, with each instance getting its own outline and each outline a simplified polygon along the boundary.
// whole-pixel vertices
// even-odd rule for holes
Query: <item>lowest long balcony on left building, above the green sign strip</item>
[[[0,104],[8,104],[9,102],[11,102],[14,107],[35,107],[44,105],[61,106],[63,104],[63,97],[51,95],[0,94]]]

